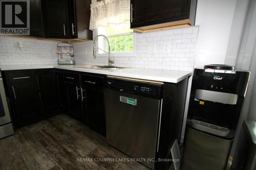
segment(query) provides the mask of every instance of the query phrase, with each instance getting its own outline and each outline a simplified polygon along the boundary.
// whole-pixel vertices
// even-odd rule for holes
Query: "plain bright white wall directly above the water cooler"
[[[224,64],[236,0],[198,0],[195,67]]]

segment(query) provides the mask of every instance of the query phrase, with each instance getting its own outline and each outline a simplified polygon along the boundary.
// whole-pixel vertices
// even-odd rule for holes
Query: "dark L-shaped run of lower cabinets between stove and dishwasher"
[[[67,113],[105,135],[104,75],[58,69],[4,71],[15,127]]]

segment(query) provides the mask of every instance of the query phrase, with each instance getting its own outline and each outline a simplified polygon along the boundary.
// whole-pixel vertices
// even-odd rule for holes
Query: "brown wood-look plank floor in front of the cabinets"
[[[78,161],[79,158],[88,161]],[[60,114],[18,129],[0,139],[0,169],[147,169],[138,162],[89,161],[90,158],[129,158],[103,136]]]

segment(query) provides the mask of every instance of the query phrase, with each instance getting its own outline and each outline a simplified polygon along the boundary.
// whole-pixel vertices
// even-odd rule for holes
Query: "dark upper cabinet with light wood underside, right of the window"
[[[161,31],[194,26],[197,0],[131,0],[131,29]]]

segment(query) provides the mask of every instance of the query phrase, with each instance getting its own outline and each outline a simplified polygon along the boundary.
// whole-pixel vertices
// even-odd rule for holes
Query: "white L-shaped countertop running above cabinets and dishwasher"
[[[95,74],[119,76],[134,79],[152,80],[160,82],[178,83],[184,78],[192,75],[191,71],[165,70],[165,69],[147,69],[147,68],[121,68],[121,69],[91,69],[81,68],[79,65],[7,65],[0,66],[1,70],[17,69],[40,69],[40,68],[58,68],[81,72],[91,72]]]

